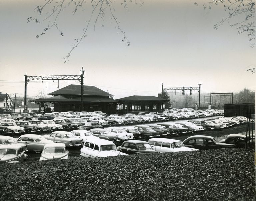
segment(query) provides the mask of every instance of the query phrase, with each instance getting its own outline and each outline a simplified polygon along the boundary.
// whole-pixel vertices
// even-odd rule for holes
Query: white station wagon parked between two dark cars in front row
[[[180,151],[199,151],[199,149],[185,147],[180,140],[167,138],[152,138],[148,140],[152,148],[160,153],[180,152]]]

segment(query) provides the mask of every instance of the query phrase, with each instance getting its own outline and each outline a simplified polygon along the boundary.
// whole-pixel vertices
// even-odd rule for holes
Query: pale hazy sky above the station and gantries
[[[255,74],[246,71],[255,67],[255,48],[250,47],[248,36],[238,34],[228,23],[214,29],[227,13],[222,3],[206,4],[212,9],[203,9],[203,3],[209,1],[196,1],[198,6],[195,0],[137,0],[127,5],[112,1],[111,11],[130,42],[128,46],[108,8],[96,21],[98,9],[92,15],[91,1],[84,1],[74,15],[76,6],[64,1],[57,26],[52,26],[58,10],[47,17],[57,3],[46,5],[39,15],[35,8],[43,6],[44,0],[2,0],[0,92],[24,96],[25,74],[80,75],[82,67],[84,85],[108,91],[114,99],[157,96],[161,84],[198,87],[201,83],[203,93],[255,90]],[[27,23],[29,17],[40,23]],[[242,21],[242,17],[233,21]],[[86,37],[64,62],[89,20]],[[50,29],[40,35],[48,25]],[[79,84],[77,80],[69,83]],[[59,82],[59,88],[67,85],[68,81]],[[30,81],[27,97],[37,96],[40,90],[50,93],[57,87],[57,81],[47,85],[46,81]]]

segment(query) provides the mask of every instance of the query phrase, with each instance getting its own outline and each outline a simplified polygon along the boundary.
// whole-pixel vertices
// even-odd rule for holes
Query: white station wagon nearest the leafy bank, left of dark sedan
[[[108,140],[90,138],[84,142],[80,149],[80,155],[84,158],[101,158],[109,156],[127,155],[117,151],[116,145]]]

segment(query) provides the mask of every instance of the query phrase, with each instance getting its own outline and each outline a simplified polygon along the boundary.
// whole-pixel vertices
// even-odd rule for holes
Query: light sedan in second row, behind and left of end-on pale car
[[[27,146],[28,151],[34,151],[35,153],[41,153],[45,144],[52,143],[51,140],[46,140],[43,136],[37,134],[24,134],[21,135],[17,143]]]

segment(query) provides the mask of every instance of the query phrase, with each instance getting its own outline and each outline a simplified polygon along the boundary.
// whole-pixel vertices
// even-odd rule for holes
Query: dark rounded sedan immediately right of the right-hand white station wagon
[[[203,136],[203,135],[195,135],[190,136],[183,141],[185,147],[192,147],[199,150],[206,149],[221,149],[221,148],[235,148],[235,144],[227,144],[217,142],[214,137],[211,136]]]

